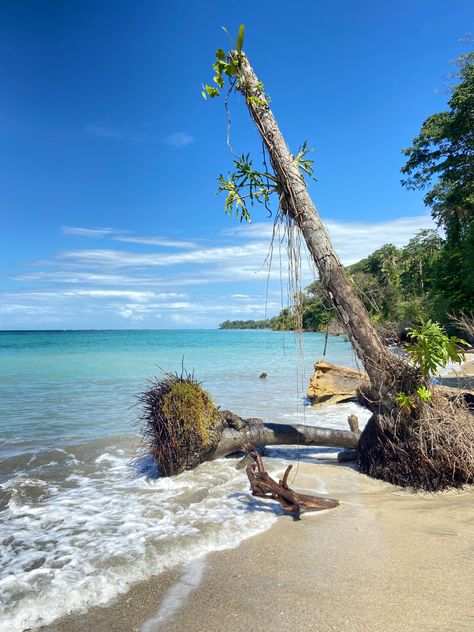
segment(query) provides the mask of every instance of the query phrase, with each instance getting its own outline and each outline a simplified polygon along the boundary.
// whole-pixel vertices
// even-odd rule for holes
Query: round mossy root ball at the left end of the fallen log
[[[219,443],[222,421],[209,394],[188,373],[165,373],[139,396],[142,432],[162,476],[202,463]]]

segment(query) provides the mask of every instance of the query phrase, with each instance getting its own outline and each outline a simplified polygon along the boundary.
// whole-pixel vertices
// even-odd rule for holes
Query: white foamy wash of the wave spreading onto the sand
[[[40,471],[9,479],[2,484],[9,500],[0,540],[0,630],[105,604],[136,581],[268,528],[277,512],[249,511],[247,486],[229,460],[147,480],[134,475],[120,449],[92,464],[71,453],[64,485],[43,480]]]

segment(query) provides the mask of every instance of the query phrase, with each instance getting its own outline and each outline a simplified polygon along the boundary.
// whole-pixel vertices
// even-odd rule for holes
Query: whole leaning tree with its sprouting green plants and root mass
[[[261,137],[267,159],[264,159],[264,168],[258,170],[250,156],[243,155],[234,159],[235,169],[228,178],[219,178],[219,191],[225,191],[227,195],[226,211],[235,210],[241,221],[250,220],[250,207],[261,203],[268,209],[270,197],[275,195],[277,217],[304,238],[319,272],[323,292],[370,380],[370,388],[366,389],[364,397],[373,415],[359,442],[360,469],[375,477],[428,489],[472,481],[474,431],[469,431],[470,426],[466,426],[468,413],[464,409],[446,408],[440,401],[433,405],[428,398],[420,399],[417,394],[424,392],[420,389],[429,390],[427,376],[416,364],[395,357],[383,344],[309,195],[305,177],[312,175],[312,161],[308,159],[306,143],[296,154],[288,148],[270,108],[265,87],[243,52],[243,39],[242,25],[235,47],[227,53],[217,50],[213,64],[215,85],[206,85],[203,96],[219,96],[227,83],[227,107],[229,95],[240,92]],[[400,393],[416,405],[401,406]],[[461,449],[460,444],[454,442],[454,445],[448,436],[456,433],[455,428],[446,429],[448,434],[444,438],[442,433],[435,436],[431,432],[439,422],[441,410],[454,420],[460,420],[468,452]],[[441,452],[437,451],[438,444],[444,446]],[[469,459],[467,454],[471,454],[471,449]],[[434,469],[439,475],[434,476],[433,468],[427,465],[430,463],[435,464]]]

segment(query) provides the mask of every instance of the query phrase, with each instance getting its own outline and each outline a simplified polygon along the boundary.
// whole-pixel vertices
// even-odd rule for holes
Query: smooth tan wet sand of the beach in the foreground
[[[299,522],[280,515],[236,549],[137,584],[108,607],[42,630],[474,629],[473,488],[413,494],[317,459],[298,470],[293,487],[310,492],[323,481],[341,505]],[[242,501],[244,511],[278,512],[270,503]]]

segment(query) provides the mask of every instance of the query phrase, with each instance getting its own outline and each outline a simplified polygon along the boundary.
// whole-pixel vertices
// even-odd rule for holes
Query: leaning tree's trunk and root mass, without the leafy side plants
[[[382,343],[334,252],[268,106],[263,84],[243,53],[230,51],[229,58],[236,62],[236,87],[245,97],[270,156],[280,212],[302,233],[322,287],[370,380],[371,388],[363,395],[374,414],[358,443],[359,470],[397,485],[430,491],[472,483],[474,434],[470,413],[436,394],[433,403],[420,403],[410,412],[397,406],[397,392],[413,395],[427,380],[418,367],[396,358]]]

